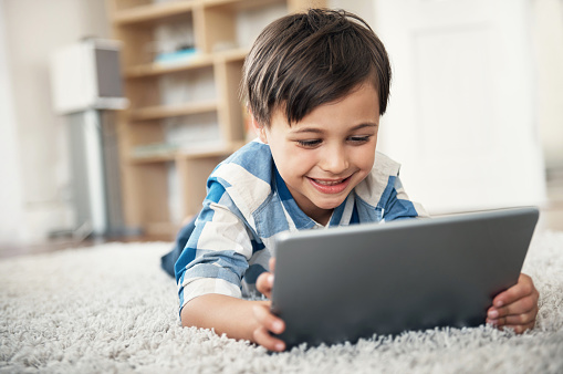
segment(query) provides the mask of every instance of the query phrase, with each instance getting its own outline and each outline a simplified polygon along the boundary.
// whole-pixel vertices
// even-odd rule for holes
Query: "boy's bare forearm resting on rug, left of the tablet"
[[[181,310],[181,324],[215,329],[218,334],[237,340],[254,341],[253,331],[259,323],[253,305],[269,304],[268,301],[248,301],[222,294],[204,294],[190,300]]]

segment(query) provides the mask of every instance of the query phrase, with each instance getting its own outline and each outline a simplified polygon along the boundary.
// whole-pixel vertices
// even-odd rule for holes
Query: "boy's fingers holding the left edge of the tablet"
[[[270,259],[270,271],[263,272],[257,279],[257,289],[268,299],[272,294],[273,288],[273,272],[275,268],[275,259]],[[261,303],[253,307],[254,318],[257,319],[259,326],[253,332],[254,342],[264,346],[270,351],[281,352],[285,350],[285,343],[270,334],[281,334],[285,330],[285,323],[282,319],[270,312],[271,302]]]

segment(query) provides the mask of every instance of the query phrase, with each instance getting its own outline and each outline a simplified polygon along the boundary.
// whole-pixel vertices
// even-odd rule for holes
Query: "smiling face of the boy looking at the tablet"
[[[363,84],[342,100],[314,108],[291,127],[275,111],[270,128],[259,131],[268,143],[291,195],[311,218],[326,225],[334,208],[372,170],[379,104],[373,84]]]

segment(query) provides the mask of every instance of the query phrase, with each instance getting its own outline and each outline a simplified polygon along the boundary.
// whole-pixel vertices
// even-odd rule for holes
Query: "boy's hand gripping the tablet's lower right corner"
[[[540,293],[532,279],[521,273],[517,284],[492,300],[492,307],[487,312],[487,323],[501,330],[510,328],[521,334],[535,324],[539,298]]]

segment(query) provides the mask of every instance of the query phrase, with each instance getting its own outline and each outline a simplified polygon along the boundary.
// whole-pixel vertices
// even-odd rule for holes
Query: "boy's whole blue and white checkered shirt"
[[[408,200],[399,164],[377,153],[372,173],[334,209],[327,227],[426,216]],[[257,297],[258,276],[268,270],[273,236],[324,228],[296,205],[278,174],[270,146],[247,144],[219,164],[207,181],[207,198],[176,262],[180,310],[207,293]]]

